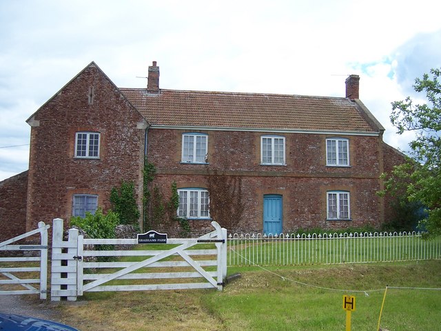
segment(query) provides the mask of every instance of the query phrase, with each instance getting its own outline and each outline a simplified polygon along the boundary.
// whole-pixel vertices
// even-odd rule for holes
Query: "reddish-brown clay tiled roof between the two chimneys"
[[[152,126],[378,132],[363,107],[337,97],[121,88]]]

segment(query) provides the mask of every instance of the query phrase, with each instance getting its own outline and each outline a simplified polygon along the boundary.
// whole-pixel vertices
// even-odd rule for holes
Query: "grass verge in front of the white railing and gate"
[[[63,320],[100,330],[345,330],[344,294],[356,297],[352,330],[441,330],[441,261],[229,268],[222,292],[85,293]],[[307,285],[305,285],[307,284]],[[361,292],[358,292],[361,291]],[[364,292],[366,291],[366,293]]]

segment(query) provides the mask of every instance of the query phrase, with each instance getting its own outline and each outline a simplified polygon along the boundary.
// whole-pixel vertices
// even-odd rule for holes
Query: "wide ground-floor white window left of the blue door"
[[[209,194],[204,188],[181,188],[178,190],[178,217],[187,219],[209,218]]]

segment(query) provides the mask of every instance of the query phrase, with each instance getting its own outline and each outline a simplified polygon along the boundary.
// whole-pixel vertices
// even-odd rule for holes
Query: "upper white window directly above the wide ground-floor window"
[[[208,135],[185,133],[182,135],[182,161],[207,163]]]

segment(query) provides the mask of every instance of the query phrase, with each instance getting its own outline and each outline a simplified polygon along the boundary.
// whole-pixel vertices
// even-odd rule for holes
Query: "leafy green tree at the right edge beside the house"
[[[422,203],[427,217],[420,225],[428,237],[441,234],[441,85],[440,69],[432,69],[431,77],[423,74],[413,85],[416,92],[425,92],[427,103],[414,103],[410,97],[392,103],[391,122],[398,133],[416,132],[407,163],[398,165],[386,177],[385,190],[404,192],[407,199]]]

